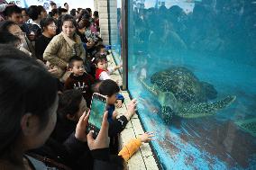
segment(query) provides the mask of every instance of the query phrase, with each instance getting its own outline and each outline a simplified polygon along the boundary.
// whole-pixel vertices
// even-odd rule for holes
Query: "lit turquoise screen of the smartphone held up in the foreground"
[[[98,130],[101,128],[103,114],[105,112],[106,100],[96,94],[93,95],[93,101],[91,104],[91,112],[89,122],[96,126]]]

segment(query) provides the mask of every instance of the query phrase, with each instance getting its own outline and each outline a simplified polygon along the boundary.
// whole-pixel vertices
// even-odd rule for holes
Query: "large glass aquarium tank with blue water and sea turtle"
[[[160,166],[256,169],[256,2],[128,2],[128,89]]]

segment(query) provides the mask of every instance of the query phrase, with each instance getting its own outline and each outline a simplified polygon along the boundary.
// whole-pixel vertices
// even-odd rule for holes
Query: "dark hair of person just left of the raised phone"
[[[79,111],[79,105],[82,101],[82,93],[80,90],[72,89],[59,94],[58,115],[62,119],[66,119],[68,114],[75,115]]]

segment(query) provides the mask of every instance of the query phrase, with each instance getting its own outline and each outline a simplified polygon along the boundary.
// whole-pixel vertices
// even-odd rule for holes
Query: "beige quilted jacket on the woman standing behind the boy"
[[[52,67],[57,67],[58,70],[54,75],[61,81],[65,81],[70,74],[67,72],[69,58],[75,55],[83,59],[86,58],[86,50],[80,37],[75,34],[74,41],[61,32],[50,40],[50,43],[44,50],[43,59],[49,61]]]

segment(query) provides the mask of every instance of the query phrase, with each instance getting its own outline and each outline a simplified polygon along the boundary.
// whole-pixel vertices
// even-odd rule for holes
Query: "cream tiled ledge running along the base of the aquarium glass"
[[[114,59],[111,56],[109,56],[108,59],[111,63],[110,67],[114,67]],[[118,71],[114,72],[111,76],[114,80],[119,80],[119,82],[122,80]],[[126,91],[122,91],[121,94],[123,94],[125,100],[123,107],[117,109],[119,114],[126,112],[127,104],[131,102],[130,96]],[[141,121],[139,120],[138,115],[135,114],[120,135],[120,148],[128,143],[130,139],[136,138],[143,132],[144,130],[142,129]],[[142,144],[141,148],[130,158],[130,160],[128,160],[126,168],[129,170],[158,170],[159,168],[153,157],[150,145]]]

